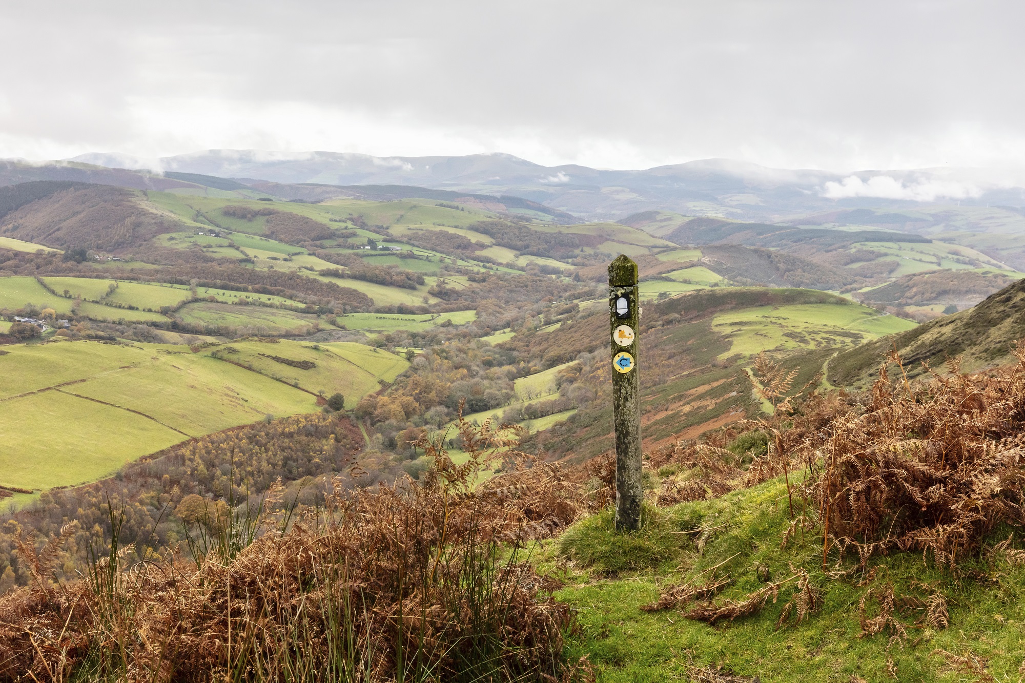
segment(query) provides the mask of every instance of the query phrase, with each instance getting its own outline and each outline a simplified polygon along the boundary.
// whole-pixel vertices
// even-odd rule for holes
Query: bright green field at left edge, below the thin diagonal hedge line
[[[60,391],[6,399],[0,410],[0,483],[19,488],[99,479],[186,439],[141,415]]]

